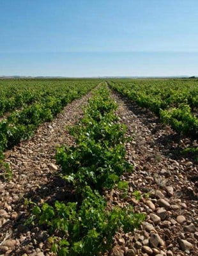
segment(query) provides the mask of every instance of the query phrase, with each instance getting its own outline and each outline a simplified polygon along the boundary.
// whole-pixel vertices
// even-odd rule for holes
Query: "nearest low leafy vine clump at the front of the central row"
[[[106,210],[106,202],[97,191],[85,186],[82,191],[82,204],[55,203],[54,207],[43,204],[42,209],[34,207],[33,213],[46,225],[52,237],[52,252],[58,255],[100,255],[110,248],[112,237],[123,227],[125,232],[139,227],[144,220],[142,214],[134,214],[132,207]],[[63,239],[53,234],[61,232]]]

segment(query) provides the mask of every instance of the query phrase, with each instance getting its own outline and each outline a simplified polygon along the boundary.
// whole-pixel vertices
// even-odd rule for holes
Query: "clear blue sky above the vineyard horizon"
[[[197,0],[0,0],[0,76],[197,76]]]

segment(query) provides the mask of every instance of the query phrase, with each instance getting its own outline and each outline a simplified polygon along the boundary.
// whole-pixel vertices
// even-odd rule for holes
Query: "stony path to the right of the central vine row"
[[[198,255],[198,168],[178,151],[190,141],[179,138],[149,111],[118,93],[112,95],[119,105],[119,120],[132,138],[126,150],[134,171],[123,175],[130,184],[127,196],[123,199],[114,190],[109,200],[112,205],[132,204],[146,220],[134,234],[117,234],[110,255]],[[133,191],[141,192],[139,202]]]

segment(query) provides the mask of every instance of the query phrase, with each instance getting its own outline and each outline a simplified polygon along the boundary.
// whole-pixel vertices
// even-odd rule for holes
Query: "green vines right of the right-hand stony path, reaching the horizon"
[[[198,80],[117,79],[111,88],[147,108],[178,133],[198,138]]]

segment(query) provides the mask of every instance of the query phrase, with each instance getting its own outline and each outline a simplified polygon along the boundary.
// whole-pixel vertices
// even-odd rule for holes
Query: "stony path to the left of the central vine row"
[[[39,230],[30,231],[23,223],[27,215],[26,204],[29,199],[39,203],[55,193],[57,198],[63,195],[60,180],[54,179],[57,172],[54,154],[58,145],[74,143],[66,126],[75,125],[82,117],[82,108],[90,96],[88,93],[73,100],[52,122],[40,126],[31,140],[6,152],[13,178],[10,182],[0,181],[0,255],[44,255],[45,234],[38,234]],[[40,237],[40,241],[34,236]]]

